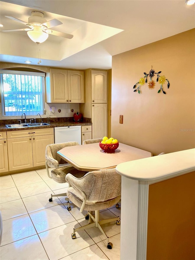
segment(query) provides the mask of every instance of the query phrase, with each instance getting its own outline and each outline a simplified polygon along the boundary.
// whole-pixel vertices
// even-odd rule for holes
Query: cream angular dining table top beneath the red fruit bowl
[[[152,153],[119,143],[114,153],[104,152],[99,143],[74,145],[62,148],[58,155],[81,171],[115,168],[119,163],[151,157]]]

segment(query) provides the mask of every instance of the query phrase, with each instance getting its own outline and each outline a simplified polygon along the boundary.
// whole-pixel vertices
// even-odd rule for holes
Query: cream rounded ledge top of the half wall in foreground
[[[117,165],[117,173],[140,181],[166,179],[195,171],[195,148]]]

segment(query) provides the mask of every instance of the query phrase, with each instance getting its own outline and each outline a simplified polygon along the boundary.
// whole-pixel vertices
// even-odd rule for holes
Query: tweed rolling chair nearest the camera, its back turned
[[[72,239],[76,238],[76,231],[98,227],[106,235],[101,227],[102,224],[116,221],[116,224],[120,225],[119,217],[99,219],[99,211],[115,205],[121,197],[121,176],[115,169],[92,171],[80,179],[67,174],[66,181],[71,185],[67,190],[67,196],[80,208],[80,212],[88,211],[85,218],[89,219],[87,225],[73,229]],[[92,215],[92,211],[95,211],[95,217]],[[113,245],[107,237],[107,248],[112,249],[112,247]]]

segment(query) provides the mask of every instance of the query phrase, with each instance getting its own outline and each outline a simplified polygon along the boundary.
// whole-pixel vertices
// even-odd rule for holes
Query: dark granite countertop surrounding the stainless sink
[[[6,121],[6,122],[5,122]],[[40,123],[39,120],[36,120],[37,123]],[[43,123],[46,123],[46,118],[43,118]],[[0,120],[0,131],[16,131],[22,129],[37,129],[37,128],[51,128],[51,127],[60,127],[60,126],[90,126],[92,125],[91,120],[88,118],[83,118],[81,122],[73,121],[73,118],[65,117],[65,118],[52,118],[50,125],[47,126],[30,126],[30,127],[17,127],[17,128],[7,128],[5,125],[8,124],[17,124],[17,119],[13,120]]]

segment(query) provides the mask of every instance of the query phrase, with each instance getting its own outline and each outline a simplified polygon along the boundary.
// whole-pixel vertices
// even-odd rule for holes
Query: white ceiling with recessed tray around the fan
[[[73,69],[112,68],[112,56],[195,27],[195,5],[185,0],[13,0],[0,2],[1,30],[22,29],[32,11],[60,20],[52,28],[73,39],[49,35],[38,46],[26,31],[0,33],[0,61]],[[25,64],[25,63],[24,63]]]

